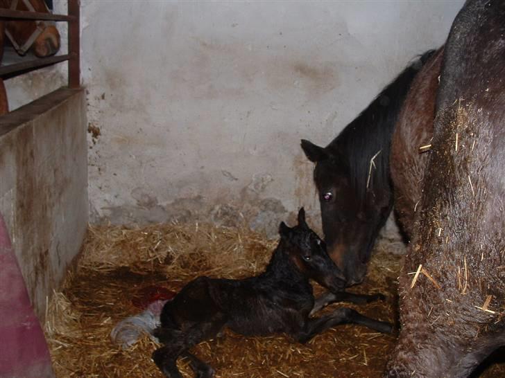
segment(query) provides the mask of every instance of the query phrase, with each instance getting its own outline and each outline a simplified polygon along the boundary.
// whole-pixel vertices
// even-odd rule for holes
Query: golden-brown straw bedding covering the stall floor
[[[151,285],[178,291],[196,276],[255,275],[276,244],[251,231],[202,224],[90,226],[78,267],[47,305],[45,332],[57,377],[162,377],[151,361],[157,345],[147,336],[127,350],[110,341],[118,321],[142,311],[132,300]],[[393,322],[399,269],[397,256],[376,251],[366,281],[355,291],[382,292],[388,299],[349,307]],[[358,325],[335,327],[306,345],[283,335],[226,331],[193,352],[212,365],[216,377],[380,377],[394,341]],[[185,377],[193,376],[185,361],[178,364]],[[490,370],[483,376],[505,373],[504,366]]]

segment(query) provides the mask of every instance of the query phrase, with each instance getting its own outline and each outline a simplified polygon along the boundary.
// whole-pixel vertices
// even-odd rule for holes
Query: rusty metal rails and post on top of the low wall
[[[80,0],[68,0],[68,15],[52,15],[50,13],[28,12],[23,10],[0,9],[0,20],[37,19],[68,22],[68,54],[53,57],[33,58],[25,62],[0,66],[0,78],[11,78],[44,66],[60,62],[68,62],[68,86],[71,89],[80,87]]]

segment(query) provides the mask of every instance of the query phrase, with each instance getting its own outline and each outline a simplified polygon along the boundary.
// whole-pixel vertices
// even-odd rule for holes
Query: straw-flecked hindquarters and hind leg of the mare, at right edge
[[[388,377],[468,377],[505,345],[505,1],[467,1],[443,55]]]

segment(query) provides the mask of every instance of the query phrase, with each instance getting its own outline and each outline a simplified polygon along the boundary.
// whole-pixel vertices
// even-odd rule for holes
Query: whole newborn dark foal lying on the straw
[[[214,370],[188,350],[210,339],[223,327],[243,335],[289,334],[300,343],[329,327],[357,323],[379,332],[391,332],[391,324],[376,321],[350,308],[309,318],[314,295],[309,279],[330,291],[342,291],[345,278],[327,254],[325,244],[298,213],[298,226],[280,224],[280,242],[259,276],[244,280],[199,277],[164,305],[161,326],[155,336],[164,344],[153,360],[166,377],[182,377],[176,366],[186,357],[197,377],[212,377]]]

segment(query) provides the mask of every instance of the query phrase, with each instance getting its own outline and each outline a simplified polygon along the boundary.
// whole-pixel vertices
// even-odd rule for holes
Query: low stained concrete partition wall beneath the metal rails
[[[58,89],[0,118],[0,212],[41,321],[87,227],[85,109]]]

